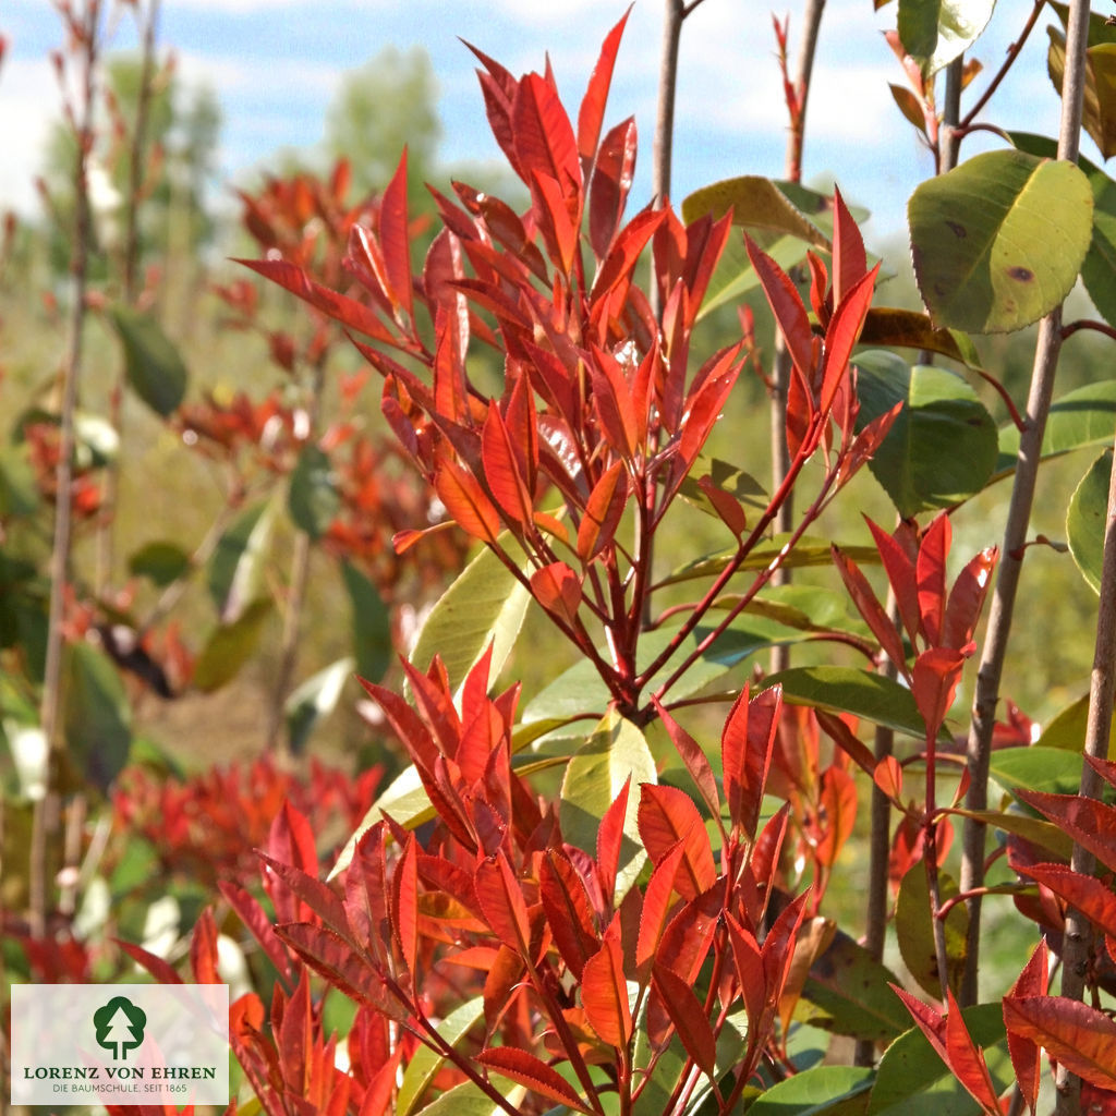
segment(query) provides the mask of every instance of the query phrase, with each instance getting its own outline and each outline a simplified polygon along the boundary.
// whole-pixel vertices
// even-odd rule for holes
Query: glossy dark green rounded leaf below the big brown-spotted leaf
[[[863,429],[896,403],[904,407],[868,468],[904,519],[975,496],[995,468],[998,432],[977,393],[960,376],[910,367],[894,353],[856,357]]]

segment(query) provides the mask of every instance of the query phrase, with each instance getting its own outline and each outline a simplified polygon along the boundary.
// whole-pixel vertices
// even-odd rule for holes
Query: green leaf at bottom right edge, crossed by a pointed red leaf
[[[961,1012],[1001,1091],[1014,1080],[999,1003],[981,1003]],[[979,1116],[980,1106],[917,1027],[897,1038],[881,1059],[868,1116]]]

